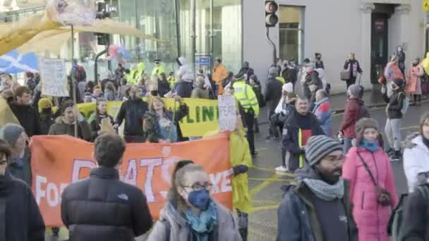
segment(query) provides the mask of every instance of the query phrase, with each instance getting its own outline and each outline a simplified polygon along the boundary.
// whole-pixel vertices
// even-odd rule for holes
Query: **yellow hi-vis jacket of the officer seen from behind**
[[[250,108],[255,111],[255,116],[259,115],[259,104],[258,99],[256,99],[255,92],[253,92],[252,87],[246,84],[244,80],[235,82],[234,85],[234,97],[240,102],[243,107],[244,112],[248,112]]]

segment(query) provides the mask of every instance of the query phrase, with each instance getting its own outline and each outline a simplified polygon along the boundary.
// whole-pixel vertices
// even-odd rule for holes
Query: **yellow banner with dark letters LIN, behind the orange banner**
[[[174,99],[164,99],[166,108],[174,109]],[[217,100],[212,99],[182,99],[189,107],[188,116],[179,123],[182,135],[184,137],[203,136],[206,132],[219,129],[217,120],[219,111],[217,109]],[[107,112],[116,119],[121,109],[121,101],[107,102]],[[179,104],[176,103],[176,108]],[[80,113],[86,119],[90,118],[95,111],[95,102],[78,104]]]

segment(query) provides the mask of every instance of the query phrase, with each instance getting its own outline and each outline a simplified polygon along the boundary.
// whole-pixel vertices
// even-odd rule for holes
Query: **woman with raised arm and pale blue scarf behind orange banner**
[[[143,130],[149,142],[172,143],[179,140],[179,121],[188,114],[188,106],[179,101],[179,109],[175,113],[165,109],[164,101],[160,97],[153,97],[150,111],[145,114]]]

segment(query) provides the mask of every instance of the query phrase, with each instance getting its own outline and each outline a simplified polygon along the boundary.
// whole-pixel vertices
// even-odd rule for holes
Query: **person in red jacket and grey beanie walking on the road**
[[[361,108],[363,101],[361,100],[361,87],[359,85],[350,85],[347,91],[349,99],[347,99],[344,108],[344,116],[341,125],[339,125],[339,136],[344,137],[344,153],[347,154],[351,148],[351,142],[356,137],[354,131],[356,122],[362,117]]]

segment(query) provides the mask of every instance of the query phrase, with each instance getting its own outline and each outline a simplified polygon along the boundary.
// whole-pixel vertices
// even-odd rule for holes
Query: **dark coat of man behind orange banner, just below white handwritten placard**
[[[64,123],[63,118],[60,116],[56,118],[55,124],[49,129],[48,135],[70,135],[75,136],[75,125],[69,125]],[[90,141],[91,140],[91,128],[90,125],[85,121],[80,121],[78,125],[78,138]]]

